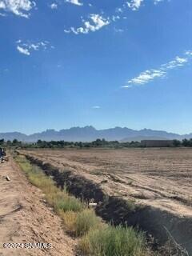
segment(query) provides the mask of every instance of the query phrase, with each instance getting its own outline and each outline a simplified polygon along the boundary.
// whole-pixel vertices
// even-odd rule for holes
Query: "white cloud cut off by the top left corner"
[[[29,18],[30,10],[36,6],[31,0],[0,0],[0,10],[11,12],[20,17]]]

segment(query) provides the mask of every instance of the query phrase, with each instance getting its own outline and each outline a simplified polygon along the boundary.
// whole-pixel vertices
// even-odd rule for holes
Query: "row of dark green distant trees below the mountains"
[[[13,141],[5,141],[4,139],[0,139],[0,146],[14,146],[14,147],[22,147],[22,148],[91,148],[91,147],[110,147],[110,148],[123,148],[123,147],[142,147],[140,142],[118,142],[118,141],[106,141],[103,139],[96,139],[94,142],[65,142],[65,141],[42,141],[38,140],[38,142],[19,142],[17,139]],[[188,146],[192,147],[192,138],[183,139],[182,141],[174,139],[173,146]]]

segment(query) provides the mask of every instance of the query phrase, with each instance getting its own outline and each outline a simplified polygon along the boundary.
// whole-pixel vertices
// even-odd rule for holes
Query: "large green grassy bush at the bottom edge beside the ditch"
[[[148,256],[142,233],[122,226],[90,230],[79,242],[80,249],[91,256]]]

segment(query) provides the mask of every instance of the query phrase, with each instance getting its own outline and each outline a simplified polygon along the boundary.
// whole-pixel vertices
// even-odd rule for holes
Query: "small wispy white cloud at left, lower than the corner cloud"
[[[50,42],[48,41],[43,41],[43,42],[22,42],[22,40],[18,40],[16,42],[17,44],[17,50],[21,53],[21,54],[26,54],[26,55],[30,55],[31,52],[37,51],[37,50],[47,50],[48,48],[54,48],[54,46],[50,46]]]

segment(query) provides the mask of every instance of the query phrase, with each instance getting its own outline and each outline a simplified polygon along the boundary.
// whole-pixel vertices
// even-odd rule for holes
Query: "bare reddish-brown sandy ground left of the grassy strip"
[[[43,242],[53,247],[4,249],[4,242]],[[43,202],[41,190],[30,185],[12,159],[0,164],[0,255],[72,256],[74,247],[75,241],[64,234],[60,218]]]

